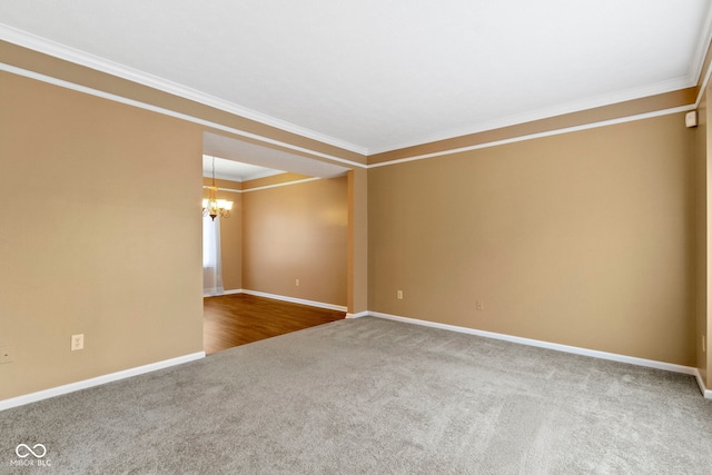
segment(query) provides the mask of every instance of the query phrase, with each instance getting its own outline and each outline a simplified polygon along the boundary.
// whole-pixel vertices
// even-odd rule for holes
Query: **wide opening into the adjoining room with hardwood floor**
[[[206,141],[216,147],[215,138]],[[204,298],[208,354],[346,316],[348,197],[342,167],[330,170],[340,177],[314,177],[255,167],[253,156],[251,176],[230,177],[226,162],[244,165],[234,157],[216,160],[218,198],[234,206],[229,218],[216,218],[225,295]],[[204,180],[211,181],[211,174],[204,172]]]

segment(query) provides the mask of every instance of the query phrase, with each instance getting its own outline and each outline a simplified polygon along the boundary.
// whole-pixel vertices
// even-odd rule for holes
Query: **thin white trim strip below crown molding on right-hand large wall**
[[[672,109],[656,110],[654,112],[646,112],[646,113],[641,113],[641,115],[637,115],[637,116],[621,117],[621,118],[617,118],[617,119],[604,120],[604,121],[601,121],[601,122],[585,123],[583,126],[568,127],[568,128],[565,128],[565,129],[550,130],[550,131],[546,131],[546,132],[531,133],[531,135],[513,137],[513,138],[504,139],[504,140],[495,140],[495,141],[491,141],[491,142],[477,144],[477,145],[473,145],[473,146],[469,146],[469,147],[453,148],[453,149],[449,149],[449,150],[434,151],[432,154],[416,155],[416,156],[412,156],[412,157],[399,158],[399,159],[396,159],[396,160],[382,161],[379,164],[372,164],[372,165],[368,166],[368,168],[387,167],[389,165],[405,164],[407,161],[425,160],[426,158],[442,157],[442,156],[445,156],[445,155],[459,154],[459,152],[469,151],[469,150],[478,150],[478,149],[482,149],[482,148],[496,147],[496,146],[501,146],[501,145],[514,144],[514,142],[524,141],[524,140],[532,140],[532,139],[537,139],[537,138],[542,138],[542,137],[551,137],[551,136],[557,136],[557,135],[561,135],[561,133],[576,132],[576,131],[580,131],[580,130],[595,129],[595,128],[599,128],[599,127],[613,126],[615,123],[632,122],[632,121],[635,121],[635,120],[650,119],[650,118],[653,118],[653,117],[668,116],[668,115],[671,115],[671,113],[686,112],[686,111],[690,111],[690,110],[694,110],[695,108],[696,108],[695,105],[690,105],[690,106],[675,107],[675,108],[672,108]]]

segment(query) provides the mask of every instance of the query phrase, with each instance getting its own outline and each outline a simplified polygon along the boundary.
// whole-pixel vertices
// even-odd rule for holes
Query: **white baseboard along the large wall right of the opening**
[[[685,374],[685,375],[693,375],[698,379],[698,384],[700,385],[700,389],[702,390],[702,395],[708,399],[712,399],[712,390],[710,390],[710,389],[704,387],[704,383],[702,382],[702,377],[700,376],[700,372],[698,370],[698,368],[693,368],[693,367],[690,367],[690,366],[675,365],[675,364],[672,364],[672,363],[664,363],[664,362],[656,362],[654,359],[637,358],[637,357],[634,357],[634,356],[619,355],[619,354],[615,354],[615,353],[599,352],[596,349],[580,348],[577,346],[561,345],[561,344],[557,344],[557,343],[542,342],[542,340],[538,340],[538,339],[523,338],[523,337],[518,337],[518,336],[498,334],[498,333],[494,333],[494,331],[478,330],[478,329],[474,329],[474,328],[459,327],[459,326],[455,326],[455,325],[438,324],[436,321],[419,320],[417,318],[400,317],[400,316],[397,316],[397,315],[382,314],[379,311],[368,311],[367,314],[370,315],[370,316],[374,316],[374,317],[385,318],[385,319],[388,319],[388,320],[403,321],[403,323],[406,323],[406,324],[422,325],[422,326],[426,326],[426,327],[439,328],[439,329],[445,329],[445,330],[451,330],[451,331],[465,333],[465,334],[469,334],[469,335],[477,335],[477,336],[482,336],[482,337],[485,337],[485,338],[494,338],[494,339],[501,339],[501,340],[504,340],[504,342],[517,343],[517,344],[521,344],[521,345],[536,346],[538,348],[554,349],[556,352],[572,353],[574,355],[590,356],[592,358],[610,359],[612,362],[627,363],[630,365],[645,366],[645,367],[649,367],[649,368],[664,369],[664,370],[668,370],[668,372],[682,373],[682,374]]]

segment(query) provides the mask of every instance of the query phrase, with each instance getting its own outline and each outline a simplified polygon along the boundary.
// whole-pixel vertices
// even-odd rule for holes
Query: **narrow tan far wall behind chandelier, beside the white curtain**
[[[210,178],[202,178],[202,185],[210,185]],[[218,188],[240,190],[243,184],[216,179]],[[202,191],[208,197],[208,190]],[[243,195],[239,192],[218,190],[218,199],[233,201],[230,217],[220,219],[220,264],[222,265],[222,287],[225,290],[243,288]]]

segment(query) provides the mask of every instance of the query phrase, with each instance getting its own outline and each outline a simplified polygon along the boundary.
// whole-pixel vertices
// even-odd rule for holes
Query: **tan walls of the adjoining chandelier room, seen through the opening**
[[[250,286],[245,286],[248,290],[265,291],[269,294],[284,295],[287,297],[305,298],[326,304],[336,304],[343,300],[346,295],[346,285],[338,289],[336,285],[345,283],[347,269],[344,267],[343,258],[346,256],[346,245],[340,250],[337,248],[323,250],[322,246],[337,246],[345,241],[347,235],[345,229],[334,227],[334,218],[344,220],[347,210],[345,201],[345,181],[344,179],[327,180],[329,186],[318,185],[316,181],[303,184],[291,184],[297,180],[314,180],[297,174],[280,174],[267,178],[249,180],[245,182],[236,182],[229,180],[216,179],[219,188],[244,190],[244,192],[230,192],[218,190],[218,198],[229,199],[234,202],[230,218],[220,219],[220,253],[222,264],[222,284],[226,290],[241,289],[243,286],[243,254],[245,254],[245,263],[249,263],[246,267],[249,269],[248,279]],[[210,178],[202,179],[204,185],[210,185]],[[267,190],[251,190],[257,187],[287,185],[286,189],[279,189],[273,192],[261,194]],[[293,188],[296,187],[296,188]],[[283,188],[283,187],[280,187]],[[243,196],[254,195],[254,199],[243,201]],[[207,190],[204,191],[207,197]],[[301,204],[296,208],[291,204]],[[258,211],[247,211],[245,218],[244,210],[246,206],[257,207]],[[285,216],[288,219],[285,219]],[[243,219],[247,219],[253,232],[246,231],[246,235],[253,236],[253,243],[274,243],[273,248],[264,248],[263,246],[248,246],[245,250],[243,247]],[[271,256],[275,253],[283,253],[287,249],[295,250],[293,243],[285,243],[284,237],[274,236],[256,236],[265,228],[264,222],[277,219],[287,236],[294,236],[294,243],[298,243],[298,251],[291,253],[287,259],[289,263],[289,276],[280,275],[286,268],[275,265]],[[365,228],[365,227],[364,227]],[[291,239],[291,238],[289,238]],[[251,253],[256,249],[257,255]],[[338,256],[335,258],[335,256]],[[364,256],[365,260],[365,256]],[[299,288],[294,285],[294,277],[297,274],[303,275],[299,281]],[[309,277],[307,277],[309,276]],[[284,283],[290,283],[285,286]],[[291,288],[294,287],[294,288]],[[285,294],[267,290],[267,288],[280,288]],[[322,295],[328,297],[328,300],[317,300],[316,297],[307,297],[307,295]],[[365,308],[364,308],[365,309]]]

